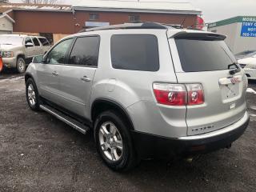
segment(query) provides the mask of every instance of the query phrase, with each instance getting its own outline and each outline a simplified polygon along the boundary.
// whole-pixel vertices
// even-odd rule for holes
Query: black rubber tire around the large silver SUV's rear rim
[[[122,136],[122,155],[120,155],[121,158],[117,161],[111,161],[109,158],[107,158],[100,143],[100,128],[102,127],[102,125],[104,125],[104,123],[107,122],[113,123],[114,126],[117,128],[118,133],[120,133]],[[96,118],[96,121],[94,123],[94,138],[98,154],[100,154],[103,161],[106,163],[107,166],[110,167],[110,169],[115,171],[126,171],[136,166],[138,158],[136,157],[134,151],[129,127],[126,122],[123,121],[122,117],[114,113],[114,111],[109,110],[98,115],[98,118]]]

